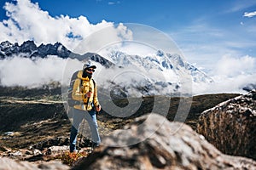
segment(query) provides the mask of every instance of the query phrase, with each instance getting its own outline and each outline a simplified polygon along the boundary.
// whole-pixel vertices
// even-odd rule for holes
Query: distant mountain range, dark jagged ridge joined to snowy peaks
[[[68,50],[61,42],[55,44],[41,44],[37,46],[33,41],[26,41],[19,45],[17,42],[14,44],[8,41],[0,43],[0,59],[6,59],[14,56],[21,56],[29,59],[46,58],[48,55],[55,55],[62,59],[79,59],[81,61],[91,60],[105,68],[117,67],[119,69],[125,67],[133,67],[137,71],[141,71],[144,75],[148,75],[143,81],[134,81],[131,79],[131,84],[124,83],[118,84],[111,82],[112,88],[122,88],[122,93],[128,94],[129,87],[137,88],[141,94],[154,94],[155,87],[171,88],[173,92],[177,92],[182,86],[178,79],[181,75],[189,73],[193,82],[213,82],[211,77],[208,77],[203,71],[197,69],[194,65],[188,62],[178,54],[165,54],[163,51],[156,51],[154,55],[139,56],[125,54],[118,50],[109,51],[108,56],[102,57],[96,53],[86,53],[83,55],[75,54]],[[108,60],[108,59],[110,60]],[[153,73],[160,73],[165,79],[159,79]],[[109,86],[108,86],[109,87]],[[118,94],[120,92],[117,92]]]

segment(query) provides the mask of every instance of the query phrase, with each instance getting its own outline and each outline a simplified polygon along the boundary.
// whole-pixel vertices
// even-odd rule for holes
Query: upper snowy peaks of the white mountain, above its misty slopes
[[[129,66],[134,65],[137,68],[143,68],[146,71],[157,70],[170,76],[179,76],[182,71],[188,71],[193,82],[213,82],[211,77],[197,69],[194,65],[184,61],[178,54],[165,54],[158,50],[151,56],[129,55],[120,51],[111,51],[108,58],[112,59],[115,65]],[[173,81],[174,77],[166,77],[167,81]]]

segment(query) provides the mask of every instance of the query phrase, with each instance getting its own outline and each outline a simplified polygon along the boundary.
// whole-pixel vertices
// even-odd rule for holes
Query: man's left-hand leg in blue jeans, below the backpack
[[[79,133],[79,125],[83,121],[84,111],[72,108],[73,110],[73,123],[70,131],[70,145],[69,150],[73,152],[76,150],[77,135]]]

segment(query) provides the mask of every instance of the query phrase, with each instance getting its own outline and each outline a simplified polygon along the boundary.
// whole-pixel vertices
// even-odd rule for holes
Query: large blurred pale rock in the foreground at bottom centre
[[[102,143],[108,145],[73,169],[256,169],[252,159],[224,155],[188,125],[160,115],[137,118],[125,130],[105,137]],[[129,145],[134,140],[143,142]]]

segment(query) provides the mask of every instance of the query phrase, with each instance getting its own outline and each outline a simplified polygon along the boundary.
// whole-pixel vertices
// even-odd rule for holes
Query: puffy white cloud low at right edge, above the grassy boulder
[[[224,56],[212,71],[212,83],[193,83],[193,94],[240,93],[248,84],[256,84],[256,59],[251,56]]]

